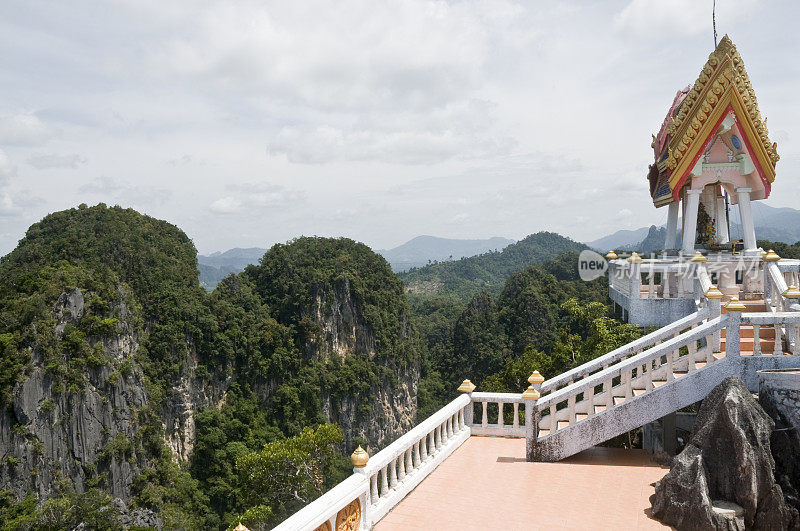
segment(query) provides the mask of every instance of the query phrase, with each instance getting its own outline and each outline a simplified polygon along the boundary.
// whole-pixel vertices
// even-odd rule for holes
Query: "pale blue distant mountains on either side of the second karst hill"
[[[399,273],[432,262],[459,260],[477,254],[500,251],[512,243],[514,240],[500,237],[485,240],[458,240],[417,236],[393,249],[375,252],[386,258],[386,261],[392,266],[392,270]],[[200,285],[212,290],[220,280],[231,273],[238,273],[248,265],[258,263],[266,252],[267,249],[262,247],[236,247],[224,252],[197,255]]]

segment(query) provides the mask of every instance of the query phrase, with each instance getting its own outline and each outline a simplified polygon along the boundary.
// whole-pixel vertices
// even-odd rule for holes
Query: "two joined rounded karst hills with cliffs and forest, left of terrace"
[[[275,246],[207,294],[174,225],[51,214],[0,260],[0,527],[269,525],[413,426],[419,363],[362,244]]]

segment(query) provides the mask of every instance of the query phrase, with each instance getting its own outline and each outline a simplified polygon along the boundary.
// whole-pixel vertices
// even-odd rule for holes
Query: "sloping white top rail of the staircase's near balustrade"
[[[665,341],[656,347],[646,350],[641,354],[631,356],[630,358],[627,358],[616,365],[612,365],[607,369],[603,369],[602,371],[595,373],[588,378],[584,378],[583,380],[577,381],[572,385],[563,387],[550,393],[549,395],[545,395],[536,402],[536,406],[541,410],[544,408],[544,406],[558,404],[572,395],[576,395],[582,391],[585,391],[586,389],[601,385],[603,382],[607,382],[613,378],[616,378],[617,376],[620,376],[627,369],[644,365],[649,361],[663,356],[665,352],[669,353],[675,351],[683,346],[686,346],[691,341],[696,341],[702,337],[713,334],[717,330],[721,330],[727,325],[728,319],[729,317],[727,314],[711,319],[706,323],[701,324],[697,328],[693,328],[692,330],[684,332],[683,334],[674,337],[669,341]]]

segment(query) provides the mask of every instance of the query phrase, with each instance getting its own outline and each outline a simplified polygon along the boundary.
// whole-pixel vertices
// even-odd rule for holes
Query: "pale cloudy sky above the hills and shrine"
[[[0,3],[0,255],[131,207],[201,253],[300,235],[588,241],[666,221],[646,174],[711,0]],[[718,0],[800,206],[800,2]]]

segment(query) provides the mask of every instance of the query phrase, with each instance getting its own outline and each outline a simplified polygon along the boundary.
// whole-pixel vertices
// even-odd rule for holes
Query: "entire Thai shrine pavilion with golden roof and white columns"
[[[744,250],[754,253],[750,202],[769,197],[780,157],[744,62],[727,35],[694,85],[675,95],[652,147],[650,195],[657,208],[669,209],[664,248],[675,248],[681,206],[681,251],[691,254],[697,244],[735,248],[730,242],[733,205],[739,209]]]

